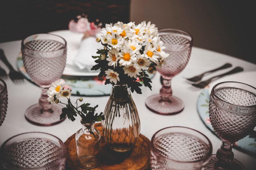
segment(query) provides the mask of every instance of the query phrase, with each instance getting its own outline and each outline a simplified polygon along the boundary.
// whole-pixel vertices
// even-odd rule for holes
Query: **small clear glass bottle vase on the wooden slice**
[[[84,169],[91,169],[100,164],[101,137],[99,130],[94,129],[94,123],[83,123],[81,120],[82,129],[76,132],[78,165]]]

